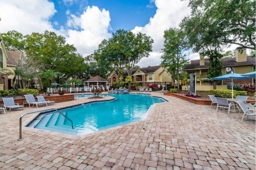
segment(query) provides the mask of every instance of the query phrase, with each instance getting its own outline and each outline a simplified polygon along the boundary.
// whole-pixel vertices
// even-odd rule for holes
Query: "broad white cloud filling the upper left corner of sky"
[[[48,20],[56,10],[48,0],[0,0],[0,6],[1,32],[17,30],[22,34],[31,34],[54,31]]]

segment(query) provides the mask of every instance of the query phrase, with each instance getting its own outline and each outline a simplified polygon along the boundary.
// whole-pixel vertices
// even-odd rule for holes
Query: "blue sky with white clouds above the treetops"
[[[154,43],[140,67],[161,63],[164,30],[178,28],[190,14],[188,0],[0,0],[0,6],[1,33],[53,31],[84,57],[116,30],[145,33]],[[199,54],[187,54],[190,60],[199,59]]]

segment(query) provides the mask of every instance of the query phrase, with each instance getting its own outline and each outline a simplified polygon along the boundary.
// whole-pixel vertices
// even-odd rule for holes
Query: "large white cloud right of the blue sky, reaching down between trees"
[[[141,67],[157,65],[160,60],[160,51],[163,48],[164,30],[178,27],[184,16],[190,14],[188,1],[180,0],[156,0],[157,10],[154,17],[144,27],[135,27],[132,32],[142,32],[150,36],[153,40],[153,52],[150,57],[143,58],[138,65]],[[157,62],[156,62],[157,61]],[[157,64],[156,64],[157,63]]]

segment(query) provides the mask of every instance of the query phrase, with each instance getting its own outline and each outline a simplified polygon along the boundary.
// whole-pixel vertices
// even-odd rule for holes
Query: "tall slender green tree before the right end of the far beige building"
[[[162,49],[161,65],[164,66],[171,74],[177,74],[178,83],[180,82],[180,71],[184,64],[186,54],[182,54],[187,49],[187,40],[184,31],[178,28],[170,28],[164,31],[164,48]],[[174,83],[175,84],[175,83]],[[180,87],[178,86],[178,91]]]

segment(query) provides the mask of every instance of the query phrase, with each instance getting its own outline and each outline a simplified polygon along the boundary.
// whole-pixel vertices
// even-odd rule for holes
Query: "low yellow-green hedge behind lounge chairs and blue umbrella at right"
[[[210,94],[214,95],[215,97],[221,97],[221,98],[232,98],[232,90],[228,89],[214,89],[210,90]],[[246,96],[245,91],[236,91],[234,90],[234,98],[236,98],[237,95]]]

